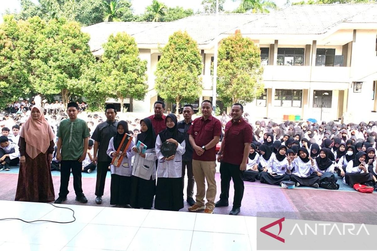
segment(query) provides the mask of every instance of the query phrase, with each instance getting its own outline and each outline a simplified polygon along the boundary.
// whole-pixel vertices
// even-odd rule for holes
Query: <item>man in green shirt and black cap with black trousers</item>
[[[81,184],[81,166],[86,157],[86,149],[89,143],[89,129],[87,123],[77,118],[78,105],[70,102],[67,105],[69,119],[60,122],[58,130],[58,144],[56,158],[60,162],[60,192],[55,204],[61,204],[67,200],[68,183],[72,169],[73,187],[76,200],[81,203],[88,202]]]

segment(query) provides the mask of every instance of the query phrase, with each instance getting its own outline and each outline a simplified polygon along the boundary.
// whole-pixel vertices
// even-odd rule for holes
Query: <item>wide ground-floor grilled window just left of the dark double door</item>
[[[275,89],[274,106],[301,107],[302,90]]]

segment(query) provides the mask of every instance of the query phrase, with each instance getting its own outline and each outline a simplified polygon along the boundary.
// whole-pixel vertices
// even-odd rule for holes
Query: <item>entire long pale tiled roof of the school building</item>
[[[186,30],[199,45],[215,38],[214,14],[198,14],[173,22],[109,22],[83,27],[92,52],[110,34],[127,32],[138,44],[166,44],[177,30]],[[270,14],[220,14],[219,34],[323,34],[340,23],[377,23],[377,4],[293,5]]]

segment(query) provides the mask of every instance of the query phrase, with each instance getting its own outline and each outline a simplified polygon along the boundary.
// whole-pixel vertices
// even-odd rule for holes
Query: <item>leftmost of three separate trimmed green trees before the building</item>
[[[148,90],[147,61],[139,58],[135,39],[125,32],[110,35],[103,49],[100,87],[120,101],[122,110],[124,97],[143,100]]]

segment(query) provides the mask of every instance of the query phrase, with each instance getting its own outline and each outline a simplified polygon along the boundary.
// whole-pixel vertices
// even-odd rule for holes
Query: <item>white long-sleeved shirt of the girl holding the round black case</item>
[[[186,142],[183,140],[178,142],[177,152],[173,160],[162,160],[164,156],[161,154],[161,138],[160,135],[156,139],[156,155],[158,159],[158,178],[181,178],[182,177],[182,155],[186,152]]]

